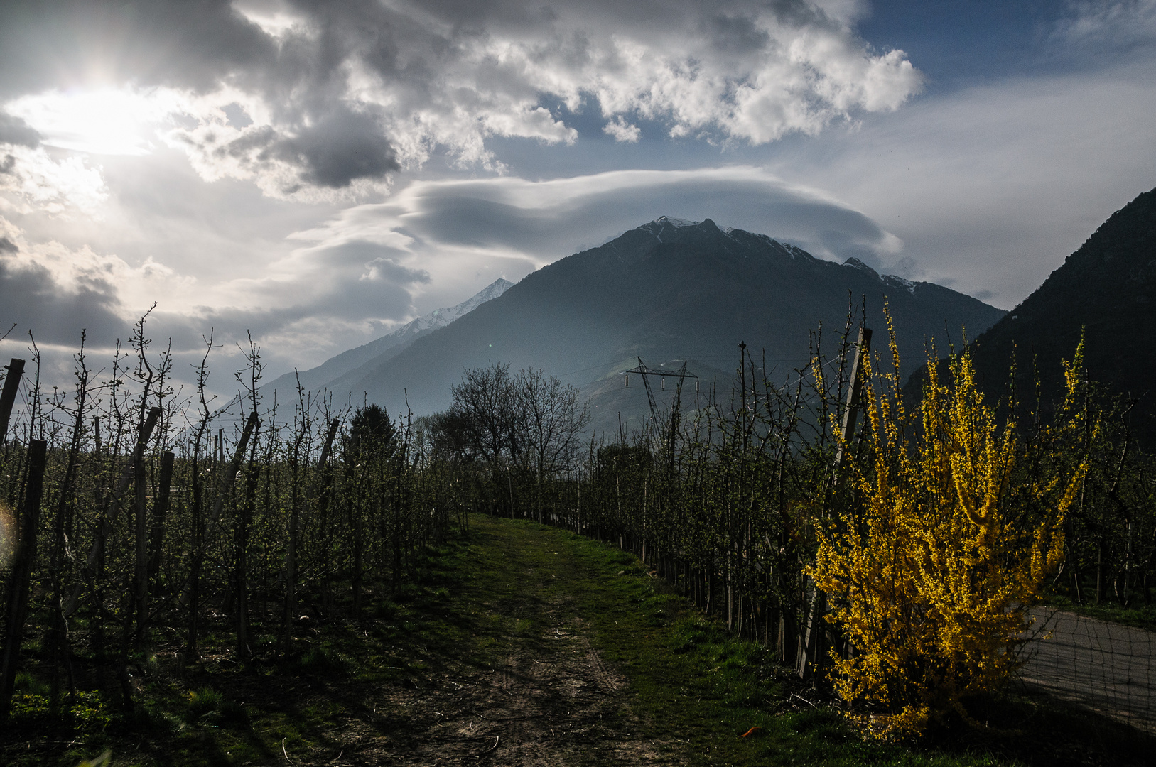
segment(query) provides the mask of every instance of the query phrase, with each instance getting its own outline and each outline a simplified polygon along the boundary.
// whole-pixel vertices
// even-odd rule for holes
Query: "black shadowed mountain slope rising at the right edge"
[[[1062,395],[1061,359],[1084,333],[1088,375],[1110,392],[1139,399],[1136,433],[1156,447],[1156,189],[1117,210],[1047,280],[976,338],[972,355],[990,393],[1006,390],[1017,357],[1017,390],[1032,390],[1032,359],[1045,405]]]

